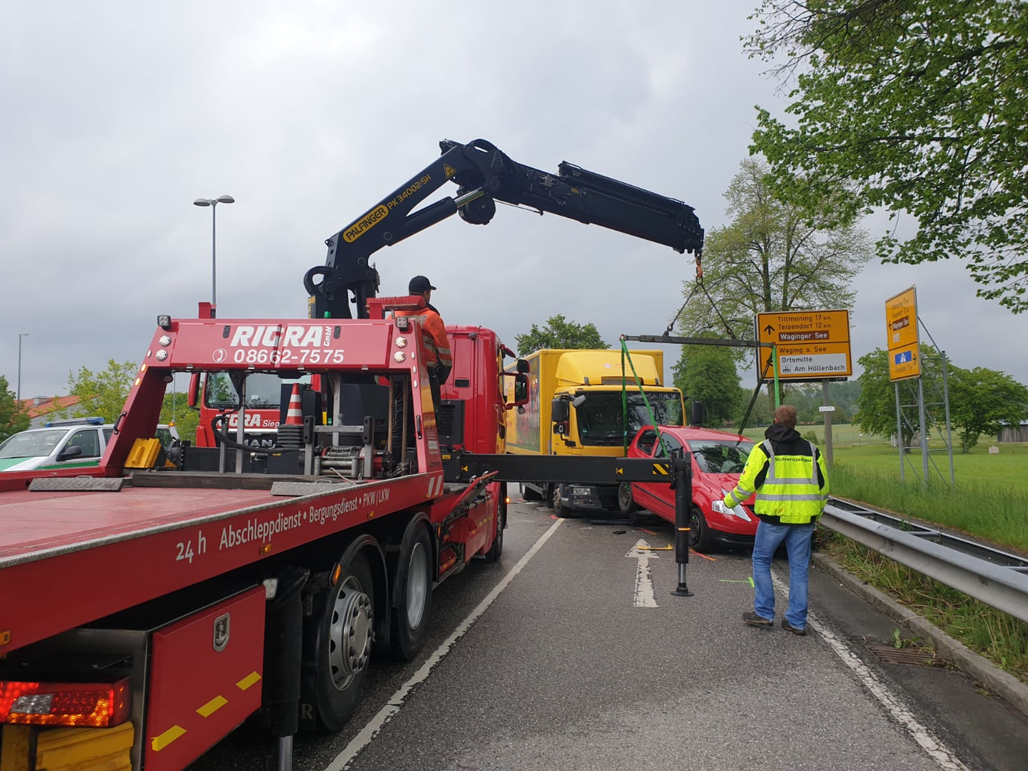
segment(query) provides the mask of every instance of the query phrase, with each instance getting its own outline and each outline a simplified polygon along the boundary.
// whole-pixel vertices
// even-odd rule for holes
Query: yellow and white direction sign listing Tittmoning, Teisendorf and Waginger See
[[[848,310],[785,310],[757,315],[757,339],[778,346],[778,377],[814,380],[853,374]],[[771,376],[771,348],[760,350],[761,372]]]

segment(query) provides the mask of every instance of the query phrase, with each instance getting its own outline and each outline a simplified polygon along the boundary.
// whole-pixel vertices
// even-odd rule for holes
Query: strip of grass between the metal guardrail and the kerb
[[[1028,624],[837,533],[820,551],[951,637],[1028,684]]]

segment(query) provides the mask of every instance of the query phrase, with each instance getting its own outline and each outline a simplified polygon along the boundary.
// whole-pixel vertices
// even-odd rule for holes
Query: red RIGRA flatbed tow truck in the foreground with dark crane
[[[511,352],[482,327],[450,328],[436,414],[416,322],[386,316],[423,300],[376,297],[367,247],[354,259],[337,248],[372,233],[391,244],[402,233],[383,223],[413,231],[411,218],[427,226],[444,208],[475,203],[481,220],[492,197],[549,194],[560,214],[588,221],[589,198],[600,224],[654,241],[677,229],[672,246],[698,251],[692,209],[584,170],[544,179],[481,141],[442,149],[418,185],[329,240],[324,281],[305,282],[314,318],[217,319],[208,303],[197,319],[159,316],[101,465],[0,479],[3,771],[182,769],[247,719],[278,737],[288,769],[298,729],[351,717],[372,654],[417,655],[436,584],[500,558],[506,482],[666,478],[653,461],[504,454],[526,368],[505,374]],[[401,216],[447,180],[475,189]],[[219,378],[225,403],[215,446],[166,452],[153,437],[181,373],[192,403],[204,378]],[[272,443],[255,447],[248,383],[266,376],[297,395],[299,415],[283,400]]]

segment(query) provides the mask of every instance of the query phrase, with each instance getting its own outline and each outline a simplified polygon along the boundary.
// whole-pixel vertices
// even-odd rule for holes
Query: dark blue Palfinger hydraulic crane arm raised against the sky
[[[481,139],[467,145],[443,140],[439,146],[442,154],[432,164],[325,242],[325,265],[303,277],[310,318],[353,318],[351,293],[357,316],[365,318],[367,299],[378,289],[378,272],[368,259],[372,254],[457,212],[465,222],[485,225],[495,214],[497,200],[619,230],[697,258],[703,249],[703,228],[693,208],[681,200],[573,163],[560,163],[555,175],[541,172]],[[457,185],[455,196],[412,211],[446,182]],[[316,284],[319,276],[322,281]]]

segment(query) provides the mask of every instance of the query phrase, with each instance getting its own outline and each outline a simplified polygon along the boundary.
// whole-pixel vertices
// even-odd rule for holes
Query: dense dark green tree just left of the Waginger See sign
[[[703,402],[710,425],[724,425],[740,415],[741,387],[732,348],[683,345],[672,371],[674,384],[686,398]]]

